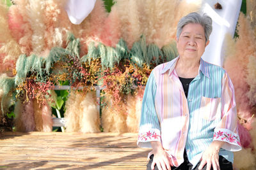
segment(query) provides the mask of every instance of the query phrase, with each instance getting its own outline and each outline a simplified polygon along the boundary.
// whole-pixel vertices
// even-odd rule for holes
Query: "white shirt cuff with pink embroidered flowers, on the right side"
[[[221,148],[231,152],[241,150],[239,135],[228,129],[215,129],[213,141],[224,141],[225,144]]]

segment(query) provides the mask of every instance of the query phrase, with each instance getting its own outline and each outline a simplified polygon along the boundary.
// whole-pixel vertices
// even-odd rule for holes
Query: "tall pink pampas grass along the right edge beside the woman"
[[[250,119],[251,109],[250,99],[244,95],[250,90],[246,83],[248,57],[255,52],[255,39],[253,37],[250,23],[241,13],[239,16],[239,27],[237,31],[239,38],[236,41],[235,55],[227,55],[224,67],[227,70],[235,89],[238,116],[244,120]]]

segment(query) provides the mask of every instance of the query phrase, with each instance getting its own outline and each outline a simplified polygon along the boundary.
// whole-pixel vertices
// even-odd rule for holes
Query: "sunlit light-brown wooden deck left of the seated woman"
[[[5,132],[0,169],[146,169],[137,133]]]

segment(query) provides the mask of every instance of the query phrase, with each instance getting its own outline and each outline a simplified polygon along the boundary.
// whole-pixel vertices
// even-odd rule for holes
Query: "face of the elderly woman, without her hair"
[[[200,24],[185,25],[176,41],[179,56],[184,59],[200,60],[209,44],[209,41],[205,43],[204,27]]]

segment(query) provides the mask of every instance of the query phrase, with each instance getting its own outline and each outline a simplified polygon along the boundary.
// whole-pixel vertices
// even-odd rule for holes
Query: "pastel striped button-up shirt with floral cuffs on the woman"
[[[241,150],[241,144],[234,87],[227,72],[200,59],[186,98],[175,71],[178,59],[155,67],[148,78],[138,146],[150,148],[150,141],[161,141],[176,167],[184,162],[186,148],[194,168],[212,141],[225,141],[220,155],[233,162],[232,152]]]

